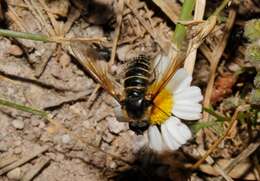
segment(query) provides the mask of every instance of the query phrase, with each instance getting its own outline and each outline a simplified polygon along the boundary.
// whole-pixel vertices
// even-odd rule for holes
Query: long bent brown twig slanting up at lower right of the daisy
[[[236,109],[224,135],[221,136],[217,141],[215,141],[215,143],[209,148],[209,150],[206,152],[206,154],[192,166],[193,169],[198,168],[205,161],[205,159],[217,148],[217,146],[228,136],[231,128],[233,127],[233,125],[236,122],[238,113],[240,111],[243,111],[243,109],[245,109],[245,108],[246,108],[246,105],[241,105]]]

